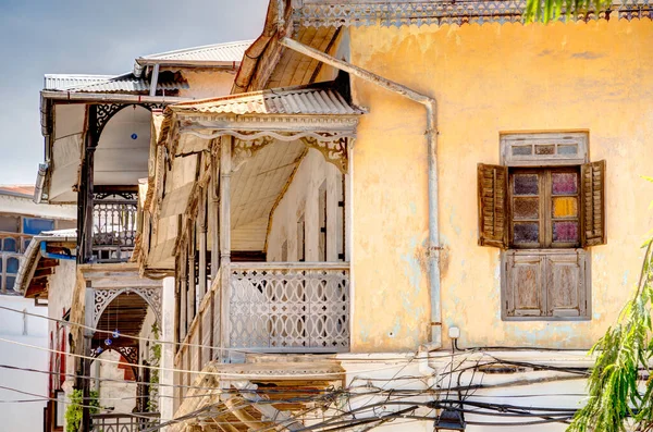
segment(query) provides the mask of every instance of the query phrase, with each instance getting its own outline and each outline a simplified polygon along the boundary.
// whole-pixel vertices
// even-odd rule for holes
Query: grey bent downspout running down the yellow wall
[[[281,28],[281,27],[280,27]],[[282,37],[279,40],[282,47],[292,49],[304,55],[310,57],[337,70],[347,72],[392,92],[401,95],[412,101],[421,103],[427,110],[427,143],[429,149],[429,285],[431,292],[431,346],[435,349],[442,346],[442,314],[441,314],[441,289],[440,289],[440,232],[438,230],[438,101],[434,98],[417,92],[402,84],[386,79],[372,72],[355,66],[343,60],[318,51],[311,47]]]

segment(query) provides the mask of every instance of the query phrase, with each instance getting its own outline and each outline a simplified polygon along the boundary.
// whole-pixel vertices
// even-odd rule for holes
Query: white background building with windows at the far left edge
[[[75,225],[74,206],[42,206],[33,202],[34,186],[0,186],[0,338],[48,348],[51,329],[48,304],[24,298],[14,289],[23,254],[34,236],[44,231]],[[15,312],[15,311],[20,312]],[[46,350],[0,342],[0,400],[29,400],[0,405],[0,430],[39,431],[49,396],[47,371],[51,356]],[[40,399],[42,396],[44,399]]]

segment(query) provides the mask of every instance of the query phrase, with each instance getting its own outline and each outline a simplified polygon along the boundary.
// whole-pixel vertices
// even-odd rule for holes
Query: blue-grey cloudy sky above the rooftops
[[[140,55],[257,38],[268,0],[0,0],[0,184],[44,161],[44,75],[121,74]]]

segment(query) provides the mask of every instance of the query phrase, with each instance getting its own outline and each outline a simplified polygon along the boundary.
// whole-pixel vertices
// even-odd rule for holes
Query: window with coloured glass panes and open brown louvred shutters
[[[507,249],[514,244],[515,247],[522,248],[572,248],[578,246],[586,248],[606,243],[605,161],[586,163],[580,166],[580,193],[576,195],[577,193],[572,190],[571,196],[564,196],[569,194],[556,192],[555,182],[556,176],[560,180],[570,176],[572,170],[567,173],[569,168],[515,170],[510,171],[508,175],[507,166],[483,163],[478,165],[480,246]],[[549,181],[539,182],[540,190],[534,196],[522,197],[519,194],[515,195],[516,190],[513,190],[513,186],[508,189],[508,185],[513,185],[513,176],[526,180],[542,177]],[[510,206],[510,200],[515,200],[513,206]],[[525,205],[532,203],[531,201],[540,202],[539,206],[531,206],[535,209],[535,214],[526,218],[519,213],[519,209],[523,212],[523,209],[528,207]],[[557,214],[557,203],[565,203],[572,211],[569,214]],[[520,230],[520,234],[523,234],[522,231],[526,233],[521,235],[523,238],[516,235],[517,229]],[[530,229],[530,231],[527,230],[527,232],[526,229]],[[532,239],[529,237],[531,231],[538,233],[533,234]],[[577,233],[580,235],[578,236]]]

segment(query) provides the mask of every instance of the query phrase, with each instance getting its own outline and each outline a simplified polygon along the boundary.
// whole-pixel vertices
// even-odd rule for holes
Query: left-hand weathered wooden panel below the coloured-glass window
[[[506,317],[544,316],[545,256],[507,252]]]

